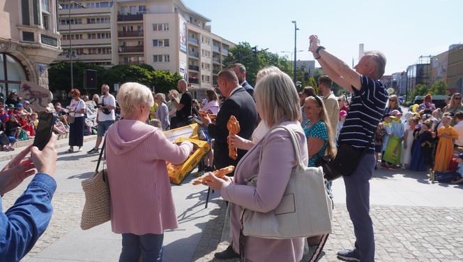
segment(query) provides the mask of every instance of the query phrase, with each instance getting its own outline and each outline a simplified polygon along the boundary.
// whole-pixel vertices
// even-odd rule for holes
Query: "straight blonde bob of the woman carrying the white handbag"
[[[299,97],[286,73],[270,73],[257,82],[254,93],[257,107],[267,126],[301,119]]]

